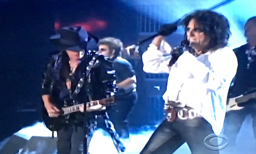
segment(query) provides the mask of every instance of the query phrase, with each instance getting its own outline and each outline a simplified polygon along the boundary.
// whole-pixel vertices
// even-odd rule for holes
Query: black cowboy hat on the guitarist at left
[[[59,34],[50,37],[51,42],[60,50],[80,52],[88,48],[95,48],[98,38],[89,34],[80,26],[64,27]]]

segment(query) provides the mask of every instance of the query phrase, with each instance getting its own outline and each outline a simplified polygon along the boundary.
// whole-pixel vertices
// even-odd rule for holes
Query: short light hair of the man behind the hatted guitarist
[[[123,50],[122,41],[114,37],[100,39],[98,45],[108,45],[110,50],[115,50],[115,57],[119,56],[120,51]]]

